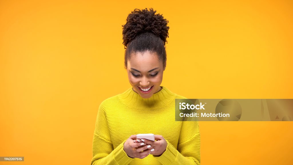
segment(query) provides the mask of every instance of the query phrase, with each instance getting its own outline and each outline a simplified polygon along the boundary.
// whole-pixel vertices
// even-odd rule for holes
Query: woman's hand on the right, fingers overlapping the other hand
[[[147,144],[148,153],[156,156],[160,156],[166,151],[167,141],[161,135],[155,135],[156,141],[151,141],[148,139],[137,139],[137,142],[144,142]]]

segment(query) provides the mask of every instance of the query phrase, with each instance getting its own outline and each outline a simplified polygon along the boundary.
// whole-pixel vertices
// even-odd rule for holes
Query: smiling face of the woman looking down
[[[156,53],[149,51],[131,54],[127,61],[129,82],[133,90],[143,98],[149,98],[161,90],[164,69],[163,61],[159,60]]]

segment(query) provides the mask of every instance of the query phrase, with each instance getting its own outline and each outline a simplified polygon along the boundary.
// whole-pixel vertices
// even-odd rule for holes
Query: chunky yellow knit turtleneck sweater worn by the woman
[[[104,100],[99,107],[93,136],[91,165],[200,164],[198,122],[175,121],[175,99],[185,99],[166,87],[142,98],[130,87]],[[131,158],[123,144],[134,134],[158,134],[167,141],[161,156]]]

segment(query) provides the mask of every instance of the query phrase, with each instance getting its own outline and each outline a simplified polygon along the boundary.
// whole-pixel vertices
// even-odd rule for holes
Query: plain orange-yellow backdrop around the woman
[[[0,156],[90,164],[98,106],[130,87],[122,25],[169,20],[161,85],[188,98],[293,98],[293,1],[0,1]],[[292,164],[293,122],[200,122],[201,163]]]

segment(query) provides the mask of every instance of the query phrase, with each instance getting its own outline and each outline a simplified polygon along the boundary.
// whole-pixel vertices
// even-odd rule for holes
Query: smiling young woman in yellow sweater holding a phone
[[[104,100],[93,137],[91,165],[200,164],[197,122],[175,121],[177,95],[160,86],[166,68],[168,21],[135,9],[123,25],[125,69],[132,87]],[[136,134],[155,134],[156,141]]]

